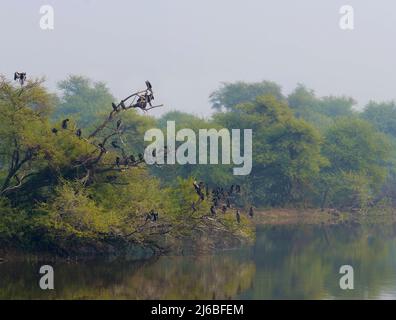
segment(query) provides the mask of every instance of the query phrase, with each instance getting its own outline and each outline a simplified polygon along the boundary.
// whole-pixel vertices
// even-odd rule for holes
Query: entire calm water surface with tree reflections
[[[39,288],[51,264],[55,290]],[[354,268],[354,290],[339,269]],[[266,226],[253,246],[146,261],[6,262],[0,299],[396,299],[395,226]]]

